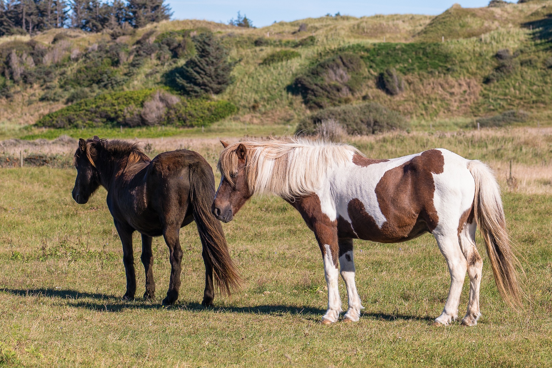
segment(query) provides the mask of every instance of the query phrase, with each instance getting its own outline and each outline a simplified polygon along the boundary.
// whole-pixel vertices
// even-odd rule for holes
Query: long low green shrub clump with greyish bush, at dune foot
[[[226,101],[178,97],[155,89],[115,92],[80,100],[45,115],[36,126],[55,128],[93,128],[174,124],[209,125],[236,112]]]

